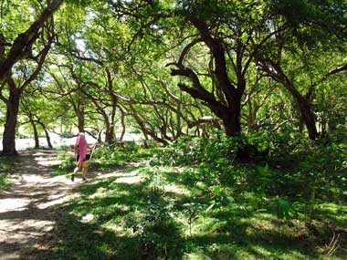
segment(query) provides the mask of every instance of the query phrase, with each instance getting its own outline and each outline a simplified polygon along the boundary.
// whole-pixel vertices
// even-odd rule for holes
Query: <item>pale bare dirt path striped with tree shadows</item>
[[[11,170],[14,183],[10,190],[0,192],[0,259],[36,259],[36,249],[45,248],[53,239],[54,206],[76,194],[71,189],[79,179],[51,177],[49,166],[54,151],[24,151]]]

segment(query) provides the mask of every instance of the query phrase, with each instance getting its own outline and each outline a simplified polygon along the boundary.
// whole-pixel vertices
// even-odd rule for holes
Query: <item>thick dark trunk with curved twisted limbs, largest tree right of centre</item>
[[[237,43],[237,56],[235,60],[237,82],[235,83],[229,78],[228,68],[226,66],[226,49],[223,39],[214,36],[204,20],[196,16],[188,16],[188,18],[192,25],[199,31],[201,40],[205,42],[205,45],[210,49],[214,57],[214,76],[217,81],[216,88],[224,94],[226,99],[216,99],[215,93],[204,88],[195,71],[191,68],[184,67],[184,57],[189,49],[195,46],[200,39],[196,39],[184,47],[178,63],[174,64],[178,69],[172,69],[171,75],[190,78],[193,87],[189,87],[184,83],[178,83],[178,87],[190,94],[193,98],[203,100],[204,105],[211,109],[218,118],[223,120],[226,135],[237,135],[241,131],[241,98],[246,88],[245,72],[247,66],[243,68],[242,62],[245,49],[240,43]]]

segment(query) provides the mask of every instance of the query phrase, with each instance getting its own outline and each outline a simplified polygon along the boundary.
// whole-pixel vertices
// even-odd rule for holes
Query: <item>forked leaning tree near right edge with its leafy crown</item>
[[[335,48],[331,40],[338,40],[337,36],[343,26],[347,25],[347,19],[343,16],[346,6],[324,1],[321,4],[318,5],[316,1],[269,1],[268,22],[264,23],[259,33],[274,29],[277,29],[277,33],[268,38],[266,46],[257,49],[255,56],[258,67],[289,91],[311,140],[316,140],[319,136],[312,108],[315,88],[331,75],[347,68],[328,68],[328,72],[321,72],[319,78],[310,78],[310,71],[306,66],[307,54],[329,53]],[[335,18],[338,22],[334,21]],[[310,82],[306,82],[306,88],[301,91],[296,86],[299,78],[297,72],[300,71],[298,67],[306,69],[306,78],[310,78]],[[298,85],[302,85],[302,82]]]

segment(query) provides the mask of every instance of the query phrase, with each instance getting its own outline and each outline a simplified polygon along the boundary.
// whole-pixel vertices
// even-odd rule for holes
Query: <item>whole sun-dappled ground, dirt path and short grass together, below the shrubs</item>
[[[345,202],[307,211],[299,203],[297,216],[279,219],[259,194],[211,197],[199,169],[139,154],[91,161],[88,182],[70,181],[69,151],[0,161],[11,165],[0,191],[0,259],[346,259]]]

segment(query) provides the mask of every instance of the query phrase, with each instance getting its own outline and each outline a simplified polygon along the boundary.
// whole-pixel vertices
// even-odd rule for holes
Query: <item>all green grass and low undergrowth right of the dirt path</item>
[[[304,159],[303,146],[285,155],[290,165],[280,156],[230,163],[220,152],[225,144],[218,149],[207,144],[205,150],[185,151],[184,143],[178,143],[184,152],[133,144],[101,148],[90,168],[112,169],[114,176],[83,184],[77,199],[58,207],[57,244],[38,256],[347,258],[343,150],[312,148]],[[73,158],[64,152],[60,156],[63,163],[53,172],[67,174],[75,165]],[[199,159],[204,156],[206,160]],[[128,161],[140,163],[130,167]]]

